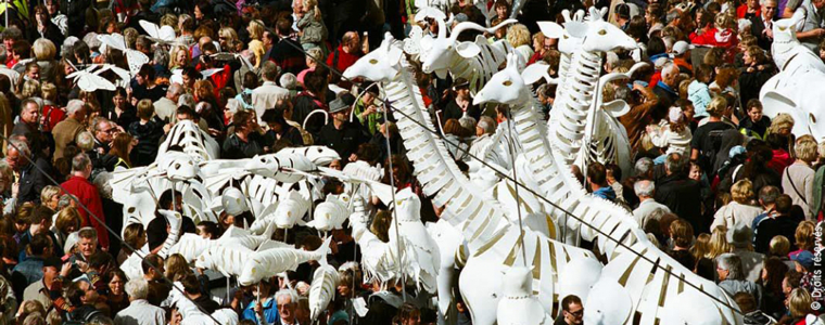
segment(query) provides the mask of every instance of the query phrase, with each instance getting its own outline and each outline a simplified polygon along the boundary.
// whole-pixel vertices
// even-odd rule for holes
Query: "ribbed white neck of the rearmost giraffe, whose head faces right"
[[[561,96],[550,114],[550,141],[567,165],[573,164],[584,138],[587,112],[599,78],[601,58],[598,53],[578,51],[567,68]],[[558,94],[558,92],[557,92]]]

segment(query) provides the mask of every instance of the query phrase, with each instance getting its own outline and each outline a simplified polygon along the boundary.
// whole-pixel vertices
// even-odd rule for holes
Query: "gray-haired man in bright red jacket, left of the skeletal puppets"
[[[88,155],[80,153],[72,159],[72,177],[68,181],[63,182],[61,186],[66,193],[74,195],[86,206],[91,213],[89,216],[86,209],[78,209],[82,226],[92,226],[98,232],[98,240],[103,250],[109,249],[109,232],[106,231],[105,216],[103,216],[103,202],[100,198],[98,188],[89,182],[92,165]]]

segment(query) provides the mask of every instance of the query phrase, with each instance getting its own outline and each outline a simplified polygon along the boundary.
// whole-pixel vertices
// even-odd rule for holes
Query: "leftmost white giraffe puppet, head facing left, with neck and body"
[[[529,229],[519,231],[518,226],[502,218],[504,212],[498,206],[480,195],[458,170],[444,143],[431,131],[434,130],[432,121],[426,116],[421,94],[415,87],[414,72],[403,57],[401,42],[388,35],[379,49],[351,66],[344,77],[381,81],[386,100],[393,103],[396,113],[401,113],[396,115],[398,129],[424,194],[434,196],[435,206],[445,207],[442,220],[460,230],[467,239],[470,258],[461,272],[460,289],[474,324],[496,322],[495,307],[503,297],[502,275],[510,265],[535,265],[533,287],[546,308],[551,308],[563,297],[560,283],[587,273],[584,270],[564,275],[558,270],[571,261],[594,259],[591,252],[547,239]]]

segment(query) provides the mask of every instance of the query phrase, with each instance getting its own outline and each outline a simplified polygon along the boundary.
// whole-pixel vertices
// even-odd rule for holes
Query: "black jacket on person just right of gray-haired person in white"
[[[683,174],[670,174],[656,183],[656,202],[668,206],[676,216],[690,222],[694,229],[708,229],[701,220],[701,187],[699,182]]]

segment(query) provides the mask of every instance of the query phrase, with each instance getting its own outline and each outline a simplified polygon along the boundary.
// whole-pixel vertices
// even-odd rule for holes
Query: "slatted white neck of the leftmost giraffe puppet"
[[[388,100],[402,114],[396,114],[398,131],[407,147],[407,157],[412,161],[417,178],[423,185],[424,194],[434,195],[436,206],[445,206],[442,219],[454,226],[462,224],[461,232],[470,250],[475,250],[491,242],[500,222],[506,222],[504,212],[483,197],[470,185],[461,173],[441,139],[433,135],[432,119],[426,115],[421,92],[416,86],[408,63],[393,80],[385,84]]]

